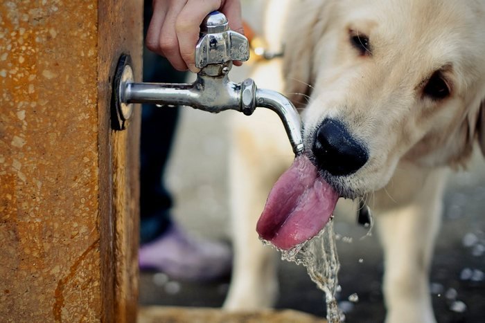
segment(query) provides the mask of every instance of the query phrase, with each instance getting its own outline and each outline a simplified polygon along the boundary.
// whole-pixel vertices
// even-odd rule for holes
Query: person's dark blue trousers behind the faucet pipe
[[[151,3],[145,1],[145,35],[151,17]],[[143,49],[143,82],[183,82],[184,74],[146,48]],[[178,108],[143,104],[140,156],[140,238],[146,243],[170,226],[172,199],[164,185],[164,171],[172,146]]]

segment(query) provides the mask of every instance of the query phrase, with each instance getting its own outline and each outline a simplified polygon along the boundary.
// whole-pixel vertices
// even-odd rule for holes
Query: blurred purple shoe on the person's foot
[[[158,270],[173,279],[208,281],[229,275],[229,246],[188,237],[172,225],[159,238],[139,250],[141,270]]]

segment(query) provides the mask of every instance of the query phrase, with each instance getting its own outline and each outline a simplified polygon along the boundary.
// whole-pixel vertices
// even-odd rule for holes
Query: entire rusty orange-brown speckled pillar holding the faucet
[[[142,10],[0,3],[1,322],[134,317],[139,120],[109,129],[109,73],[121,51],[141,71]]]

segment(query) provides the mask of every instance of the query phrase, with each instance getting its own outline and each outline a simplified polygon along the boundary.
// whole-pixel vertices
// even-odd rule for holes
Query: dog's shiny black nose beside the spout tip
[[[344,124],[325,119],[317,131],[313,154],[321,169],[333,175],[350,175],[369,159],[366,149],[350,135]]]

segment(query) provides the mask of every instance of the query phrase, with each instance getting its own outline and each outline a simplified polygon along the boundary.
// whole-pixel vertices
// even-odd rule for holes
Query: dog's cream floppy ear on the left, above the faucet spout
[[[315,46],[324,32],[332,1],[292,2],[283,39],[283,75],[285,94],[298,104],[306,102],[304,97],[310,94]]]

